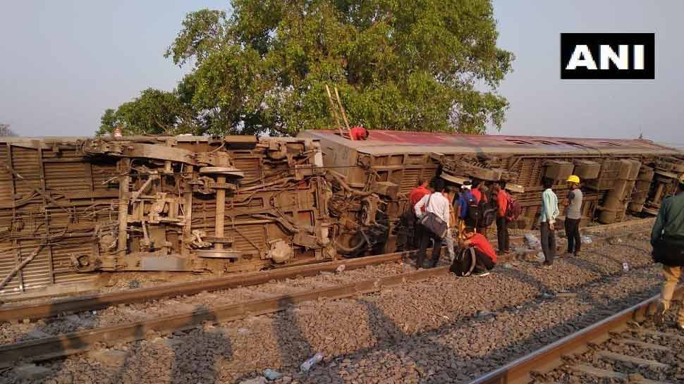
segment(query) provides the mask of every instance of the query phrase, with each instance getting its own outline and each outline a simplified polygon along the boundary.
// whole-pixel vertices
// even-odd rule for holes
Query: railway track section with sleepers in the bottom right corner
[[[682,295],[683,290],[684,287],[680,287],[676,295]],[[681,383],[684,375],[668,377],[662,381],[645,378],[642,374],[671,375],[672,370],[668,369],[676,366],[664,361],[681,360],[681,357],[675,355],[680,354],[684,346],[684,335],[674,328],[657,330],[652,322],[644,322],[647,314],[654,311],[658,298],[658,295],[651,297],[563,337],[477,378],[470,384],[558,384],[556,377],[562,378],[573,373],[592,382],[617,379],[628,383]],[[640,352],[628,352],[629,347],[635,347]],[[620,352],[615,352],[616,350]],[[640,356],[649,351],[659,352],[653,355],[657,359]],[[663,355],[670,356],[666,359]],[[676,365],[684,366],[684,361],[678,361]],[[680,373],[684,373],[684,369],[680,368]]]

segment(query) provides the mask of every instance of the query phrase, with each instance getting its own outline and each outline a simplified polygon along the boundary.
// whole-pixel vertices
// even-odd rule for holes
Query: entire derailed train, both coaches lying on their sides
[[[585,221],[612,223],[656,213],[684,173],[679,151],[647,140],[383,130],[4,138],[0,162],[0,295],[98,271],[234,273],[407,249],[418,178],[506,182],[530,228],[544,177],[562,196],[579,175]]]

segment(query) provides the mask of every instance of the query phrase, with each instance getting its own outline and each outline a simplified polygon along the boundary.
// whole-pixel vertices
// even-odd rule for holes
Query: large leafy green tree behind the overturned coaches
[[[350,123],[370,128],[484,132],[503,123],[508,102],[496,90],[513,54],[496,47],[490,0],[232,8],[230,17],[189,13],[166,57],[191,72],[173,92],[147,89],[106,111],[101,131],[295,135],[335,125],[326,84],[338,87]]]

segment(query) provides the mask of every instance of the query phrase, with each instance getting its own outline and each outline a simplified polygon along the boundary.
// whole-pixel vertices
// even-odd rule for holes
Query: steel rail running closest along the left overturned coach
[[[295,278],[298,276],[311,276],[324,271],[335,271],[339,266],[342,265],[345,266],[346,270],[358,269],[365,266],[374,266],[391,261],[398,261],[406,256],[410,256],[410,254],[413,254],[413,252],[414,251],[395,252],[379,256],[360,257],[358,259],[345,259],[318,264],[307,264],[305,266],[280,268],[273,271],[240,273],[226,278],[215,278],[211,280],[192,281],[188,283],[161,285],[159,287],[140,288],[137,290],[71,297],[68,299],[60,299],[54,302],[41,304],[6,306],[5,308],[0,307],[0,323],[3,321],[21,321],[26,318],[30,320],[37,320],[39,318],[57,316],[63,313],[93,311],[118,304],[146,302],[149,300],[164,299],[181,295],[195,295],[204,291],[209,292],[215,290],[226,290],[235,287],[263,284],[268,283],[271,280],[284,280],[286,278]]]

